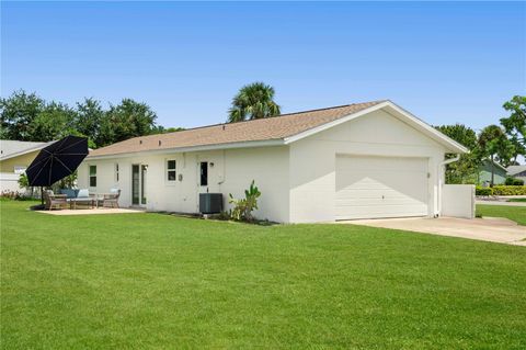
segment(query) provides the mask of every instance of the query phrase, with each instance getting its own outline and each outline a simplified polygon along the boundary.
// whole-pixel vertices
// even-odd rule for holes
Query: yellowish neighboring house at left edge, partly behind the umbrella
[[[24,173],[41,149],[49,144],[0,139],[0,192],[21,191],[20,174]]]

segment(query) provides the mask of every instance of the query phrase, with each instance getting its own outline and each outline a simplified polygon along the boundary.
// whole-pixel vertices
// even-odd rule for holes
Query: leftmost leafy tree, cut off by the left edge
[[[32,134],[32,124],[44,108],[43,99],[24,90],[14,91],[9,98],[0,99],[0,138],[39,140]]]

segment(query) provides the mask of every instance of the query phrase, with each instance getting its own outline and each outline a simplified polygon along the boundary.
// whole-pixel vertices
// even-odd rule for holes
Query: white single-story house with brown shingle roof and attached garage
[[[135,137],[90,153],[80,188],[123,206],[198,212],[255,180],[259,218],[282,223],[441,215],[445,154],[467,149],[390,101]]]

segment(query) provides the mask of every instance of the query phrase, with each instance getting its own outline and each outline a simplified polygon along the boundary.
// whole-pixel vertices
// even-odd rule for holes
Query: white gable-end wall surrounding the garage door
[[[290,221],[334,221],[336,154],[427,158],[428,216],[438,214],[444,153],[439,144],[384,111],[298,140],[290,145]]]

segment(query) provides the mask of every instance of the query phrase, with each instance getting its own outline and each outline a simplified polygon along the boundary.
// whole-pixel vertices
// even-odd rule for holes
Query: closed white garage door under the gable
[[[427,159],[336,157],[336,219],[427,215]]]

